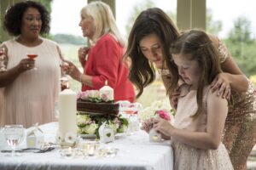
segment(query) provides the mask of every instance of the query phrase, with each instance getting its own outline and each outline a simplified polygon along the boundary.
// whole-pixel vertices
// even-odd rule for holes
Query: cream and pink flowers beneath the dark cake
[[[128,121],[122,116],[96,116],[96,115],[81,115],[77,116],[77,125],[79,134],[96,134],[99,138],[99,127],[106,122],[113,129],[114,133],[125,133],[128,127]]]

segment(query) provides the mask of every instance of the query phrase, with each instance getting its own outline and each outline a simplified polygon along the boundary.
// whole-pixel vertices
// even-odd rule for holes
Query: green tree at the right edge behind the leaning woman
[[[256,74],[256,41],[250,30],[252,30],[250,21],[239,17],[225,40],[230,54],[247,76]]]

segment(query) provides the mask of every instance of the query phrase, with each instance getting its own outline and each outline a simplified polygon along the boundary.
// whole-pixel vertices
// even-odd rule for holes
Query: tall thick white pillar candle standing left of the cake
[[[77,95],[71,89],[59,94],[59,133],[65,138],[67,133],[77,134]],[[61,143],[65,145],[65,143]]]

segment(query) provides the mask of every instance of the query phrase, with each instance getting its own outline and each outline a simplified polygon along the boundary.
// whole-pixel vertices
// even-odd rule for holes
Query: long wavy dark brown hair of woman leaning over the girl
[[[131,58],[129,78],[138,89],[137,98],[143,94],[143,88],[155,79],[153,63],[143,55],[139,48],[139,42],[143,37],[153,33],[160,37],[163,60],[169,59],[171,57],[169,49],[171,43],[177,39],[178,31],[172,20],[160,8],[148,8],[139,14],[128,38],[125,57]]]

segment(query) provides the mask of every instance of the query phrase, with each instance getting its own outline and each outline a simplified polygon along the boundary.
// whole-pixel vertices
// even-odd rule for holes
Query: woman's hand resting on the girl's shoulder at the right
[[[227,73],[219,73],[211,83],[212,92],[218,90],[218,96],[223,99],[230,99],[230,82],[227,78]]]

